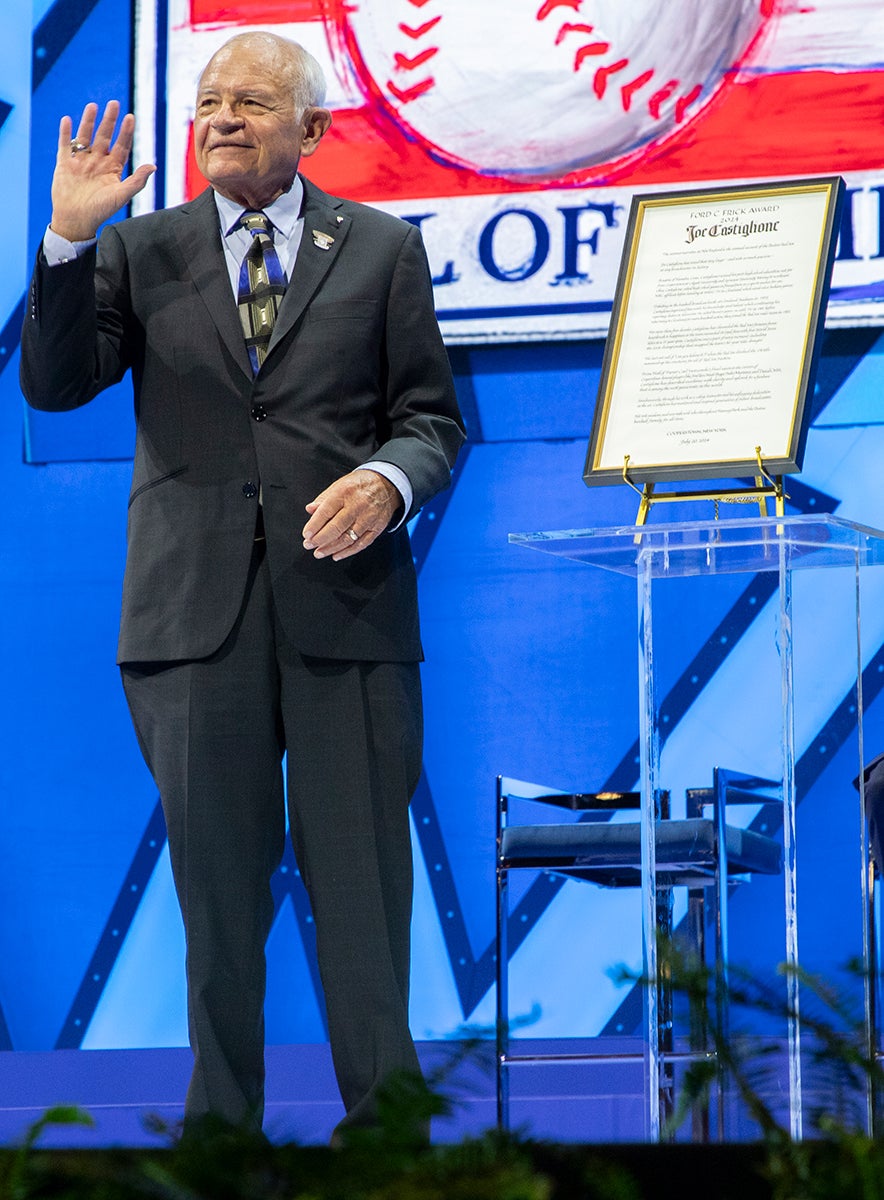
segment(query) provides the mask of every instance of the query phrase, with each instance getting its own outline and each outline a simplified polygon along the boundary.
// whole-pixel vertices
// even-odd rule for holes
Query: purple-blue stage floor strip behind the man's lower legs
[[[601,1046],[600,1043],[605,1045]],[[613,1043],[617,1042],[617,1045]],[[639,1039],[605,1038],[581,1043],[521,1040],[521,1049],[549,1051],[603,1049],[641,1051]],[[433,1122],[433,1141],[456,1141],[491,1129],[497,1120],[494,1048],[489,1042],[419,1044],[432,1086],[449,1098],[447,1117]],[[765,1099],[784,1120],[788,1087],[780,1055],[768,1056]],[[343,1115],[326,1044],[277,1045],[266,1051],[265,1130],[271,1141],[321,1145]],[[46,1130],[43,1146],[151,1146],[168,1141],[157,1126],[181,1120],[191,1069],[187,1049],[54,1050],[0,1054],[0,1144],[20,1140],[48,1108],[76,1105],[92,1127],[58,1126]],[[511,1068],[511,1127],[558,1142],[641,1142],[647,1140],[644,1069],[641,1061],[593,1064],[559,1063]],[[812,1081],[808,1080],[808,1084]],[[814,1097],[805,1094],[805,1106]],[[729,1111],[729,1141],[752,1141],[758,1127],[735,1106]],[[688,1140],[690,1128],[679,1133]]]

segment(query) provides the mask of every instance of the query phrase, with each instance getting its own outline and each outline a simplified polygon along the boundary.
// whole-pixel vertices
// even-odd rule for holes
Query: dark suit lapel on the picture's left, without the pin
[[[211,188],[179,210],[175,236],[186,270],[205,302],[218,332],[242,373],[252,378],[252,366],[242,336],[242,324],[230,289],[230,276],[221,245],[218,210]]]

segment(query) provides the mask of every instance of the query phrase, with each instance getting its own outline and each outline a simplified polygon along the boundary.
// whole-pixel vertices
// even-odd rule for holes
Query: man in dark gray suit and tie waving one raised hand
[[[404,522],[447,485],[463,430],[417,230],[297,175],[331,124],[323,89],[301,47],[231,38],[197,97],[211,188],[106,227],[97,248],[154,168],[122,178],[134,122],[114,138],[115,103],[101,120],[88,106],[73,137],[64,118],[23,331],[37,408],[132,372],[119,662],[187,936],[188,1118],[263,1116],[284,752],[345,1122],[372,1123],[385,1080],[417,1069],[421,648]],[[251,275],[243,214],[264,214],[272,242]],[[267,283],[273,254],[285,290],[267,318],[266,289],[255,316],[243,286]]]

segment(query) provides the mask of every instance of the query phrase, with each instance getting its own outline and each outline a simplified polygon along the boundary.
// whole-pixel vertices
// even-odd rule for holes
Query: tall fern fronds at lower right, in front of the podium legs
[[[662,938],[659,954],[661,973],[687,1003],[694,1036],[700,1031],[711,1051],[680,1079],[667,1133],[678,1129],[692,1108],[708,1104],[721,1085],[759,1130],[771,1200],[884,1200],[884,1064],[861,1007],[799,966],[781,964],[776,979],[765,982],[734,966],[726,973],[712,971],[675,941]],[[859,960],[848,962],[846,972],[854,983],[865,983],[866,967]],[[647,984],[625,968],[615,976]],[[788,1000],[793,992],[800,997],[799,1012]],[[823,1105],[805,1106],[801,1140],[790,1136],[768,1099],[774,1091],[771,1057],[782,1050],[735,1032],[745,1014],[774,1018],[783,1027],[788,1018],[800,1016],[802,1069],[814,1091],[825,1096]]]

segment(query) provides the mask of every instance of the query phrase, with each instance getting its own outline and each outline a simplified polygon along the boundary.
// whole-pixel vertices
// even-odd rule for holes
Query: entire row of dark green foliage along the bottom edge
[[[680,1076],[673,1129],[723,1081],[756,1122],[757,1142],[557,1146],[491,1132],[429,1146],[431,1117],[450,1109],[449,1063],[429,1085],[392,1081],[378,1126],[347,1130],[333,1147],[271,1146],[254,1130],[206,1123],[184,1135],[157,1128],[168,1145],[155,1150],[44,1150],[49,1128],[92,1123],[79,1109],[50,1109],[20,1145],[0,1150],[0,1200],[656,1200],[669,1190],[682,1200],[884,1200],[884,1138],[867,1132],[867,1099],[884,1097],[884,1069],[862,1014],[795,971],[806,1062],[825,1102],[805,1114],[810,1136],[793,1140],[769,1102],[770,1045],[720,1020],[726,1010],[790,1015],[788,970],[770,985],[733,967],[716,977],[672,943],[661,946],[661,964],[711,1051]],[[706,1157],[691,1158],[700,1151]]]

